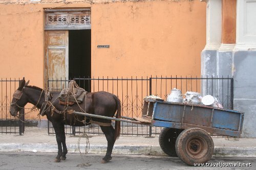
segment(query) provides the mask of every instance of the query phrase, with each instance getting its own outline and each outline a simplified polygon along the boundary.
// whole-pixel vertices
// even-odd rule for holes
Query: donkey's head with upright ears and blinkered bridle
[[[10,114],[16,116],[18,111],[22,109],[27,103],[28,99],[25,94],[23,94],[23,88],[29,84],[24,79],[20,81],[18,89],[13,93],[13,98],[10,106]]]

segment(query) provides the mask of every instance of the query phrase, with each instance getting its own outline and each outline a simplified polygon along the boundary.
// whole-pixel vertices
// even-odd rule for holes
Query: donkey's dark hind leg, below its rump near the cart
[[[108,148],[106,149],[106,155],[105,157],[101,160],[101,163],[106,163],[109,162],[112,157],[112,150],[115,144],[115,130],[113,126],[100,126],[102,132],[104,133],[106,140],[108,141]]]

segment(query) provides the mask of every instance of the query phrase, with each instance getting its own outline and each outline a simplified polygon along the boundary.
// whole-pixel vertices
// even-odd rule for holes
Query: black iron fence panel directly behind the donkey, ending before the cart
[[[138,117],[141,115],[143,98],[150,94],[149,78],[74,78],[79,87],[86,89],[88,92],[108,91],[118,96],[122,105],[122,116]],[[68,87],[70,80],[49,80],[49,90],[58,91]],[[114,123],[113,123],[114,124]],[[148,127],[129,123],[121,123],[122,135],[149,135]],[[49,127],[51,124],[49,123]],[[90,128],[66,126],[67,134],[76,134],[86,131],[92,134],[103,134],[97,125]],[[54,130],[49,130],[54,133]]]

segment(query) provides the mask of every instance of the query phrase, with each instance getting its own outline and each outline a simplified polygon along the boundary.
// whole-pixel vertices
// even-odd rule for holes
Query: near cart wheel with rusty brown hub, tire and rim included
[[[175,149],[178,157],[189,165],[206,163],[214,154],[214,141],[205,130],[190,128],[180,133]]]

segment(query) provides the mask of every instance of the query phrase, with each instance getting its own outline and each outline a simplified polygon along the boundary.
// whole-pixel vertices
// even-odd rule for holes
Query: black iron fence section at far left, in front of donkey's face
[[[25,131],[24,109],[20,110],[19,118],[13,117],[9,113],[12,94],[19,86],[19,79],[0,80],[0,133],[18,133],[22,135]]]

